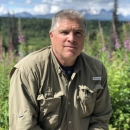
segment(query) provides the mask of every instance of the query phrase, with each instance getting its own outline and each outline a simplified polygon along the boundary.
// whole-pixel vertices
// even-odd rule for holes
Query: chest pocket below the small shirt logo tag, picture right
[[[79,95],[77,98],[79,100],[79,111],[81,117],[90,116],[92,114],[97,92],[101,89],[103,89],[101,84],[88,86],[79,85]]]

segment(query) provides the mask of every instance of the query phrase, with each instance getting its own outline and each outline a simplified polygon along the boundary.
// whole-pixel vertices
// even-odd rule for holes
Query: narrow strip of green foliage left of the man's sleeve
[[[8,130],[9,72],[14,63],[7,54],[0,61],[0,130]]]

